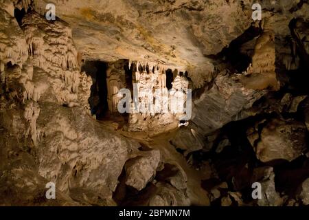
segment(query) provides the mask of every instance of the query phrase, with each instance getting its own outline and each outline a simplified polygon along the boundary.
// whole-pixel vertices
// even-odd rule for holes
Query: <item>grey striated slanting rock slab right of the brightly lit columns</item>
[[[194,100],[192,126],[185,128],[185,131],[179,131],[172,140],[177,147],[194,146],[191,151],[196,151],[201,148],[205,135],[220,129],[228,122],[250,116],[251,113],[247,113],[246,109],[250,109],[266,91],[246,88],[239,83],[239,77],[236,74],[219,74],[214,85]]]

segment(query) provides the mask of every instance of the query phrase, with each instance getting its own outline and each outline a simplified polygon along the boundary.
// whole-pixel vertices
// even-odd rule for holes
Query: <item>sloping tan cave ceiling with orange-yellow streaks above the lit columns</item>
[[[36,9],[44,12],[46,3],[38,1]],[[217,54],[229,45],[249,27],[251,16],[249,5],[242,10],[238,1],[48,3],[55,3],[57,16],[70,23],[84,56],[150,59],[185,68],[207,67],[204,55]],[[86,33],[93,37],[85,39]],[[104,50],[102,41],[106,42]]]

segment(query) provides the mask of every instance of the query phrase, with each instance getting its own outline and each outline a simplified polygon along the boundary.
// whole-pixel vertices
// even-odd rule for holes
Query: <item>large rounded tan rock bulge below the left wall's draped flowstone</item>
[[[43,137],[38,146],[38,173],[56,181],[63,192],[87,188],[100,197],[111,197],[122,167],[138,144],[104,129],[74,107],[43,102],[37,127]],[[50,112],[53,114],[51,115]],[[46,118],[49,113],[51,118]],[[113,138],[110,138],[113,136]]]

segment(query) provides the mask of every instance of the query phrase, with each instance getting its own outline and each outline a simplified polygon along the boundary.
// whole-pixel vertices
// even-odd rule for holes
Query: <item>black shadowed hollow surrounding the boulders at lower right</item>
[[[301,108],[293,118],[301,118]],[[259,120],[266,120],[260,124],[260,130],[269,120],[280,117],[277,113],[256,115],[237,122],[230,122],[220,129],[220,134],[214,141],[211,151],[196,151],[191,153],[192,166],[198,168],[203,161],[210,162],[218,173],[217,177],[211,177],[201,181],[201,186],[211,193],[211,189],[218,187],[222,182],[227,183],[226,188],[218,188],[221,197],[227,196],[229,191],[241,192],[241,199],[245,203],[255,203],[251,197],[251,184],[256,181],[253,170],[261,167],[273,167],[275,173],[275,190],[283,197],[293,198],[297,193],[299,184],[309,177],[309,159],[306,155],[288,162],[284,159],[275,159],[270,162],[261,162],[255,155],[254,147],[247,137],[247,129],[254,126]],[[290,118],[292,115],[289,116]],[[308,146],[308,131],[306,131],[306,145]],[[229,144],[218,152],[220,142],[227,138]],[[307,152],[309,149],[307,149]],[[306,153],[306,152],[304,152]],[[187,155],[187,159],[190,155]],[[237,202],[232,200],[232,206]],[[220,206],[220,198],[211,201],[211,206]]]

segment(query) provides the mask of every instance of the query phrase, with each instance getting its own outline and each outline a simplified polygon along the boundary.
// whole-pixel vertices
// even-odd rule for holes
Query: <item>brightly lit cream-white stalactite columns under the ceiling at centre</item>
[[[162,65],[151,62],[136,62],[133,83],[136,83],[137,98],[129,114],[130,131],[157,132],[176,127],[181,115],[185,115],[185,102],[189,81],[177,76],[171,91],[166,87],[166,74]],[[161,128],[157,125],[161,124]],[[166,128],[164,126],[168,125]],[[155,128],[157,126],[157,128]]]

